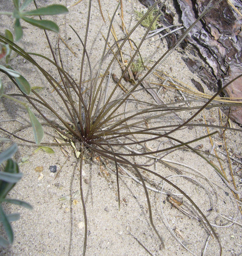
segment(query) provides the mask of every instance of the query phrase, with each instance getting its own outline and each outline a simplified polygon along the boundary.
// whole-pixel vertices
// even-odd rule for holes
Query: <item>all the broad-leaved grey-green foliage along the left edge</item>
[[[54,31],[56,33],[59,32],[59,27],[56,23],[54,23],[51,20],[37,20],[34,18],[28,18],[28,16],[39,16],[39,15],[56,15],[56,14],[63,14],[67,13],[68,9],[65,6],[62,5],[49,5],[40,9],[35,9],[32,11],[25,11],[25,9],[33,2],[33,0],[25,0],[22,5],[20,5],[19,0],[13,0],[15,9],[13,12],[4,12],[0,11],[0,15],[9,15],[15,18],[15,37],[16,41],[20,40],[23,36],[23,29],[20,25],[20,19],[23,19],[27,23],[35,26],[40,27],[42,29],[47,29]],[[9,42],[14,42],[14,37],[12,33],[6,29],[5,30],[5,37],[8,39]],[[16,82],[19,89],[26,95],[29,95],[31,92],[31,87],[28,81],[17,71],[15,71],[12,66],[10,65],[11,52],[12,50],[9,48],[9,42],[6,42],[4,44],[0,44],[0,59],[5,58],[5,64],[0,64],[0,71],[2,73],[5,73],[11,78],[13,81]],[[24,106],[27,110],[27,113],[29,115],[29,119],[32,125],[32,128],[34,130],[34,137],[35,137],[35,143],[40,144],[43,139],[43,128],[38,121],[38,119],[35,117],[35,114],[30,110],[28,105],[23,102],[19,101],[9,95],[4,94],[4,88],[3,84],[0,78],[0,98],[7,98],[9,100],[15,101],[22,106]],[[9,139],[5,139],[0,137],[0,143],[9,141]],[[45,147],[43,147],[44,150],[46,150]],[[8,247],[10,244],[13,243],[14,235],[13,230],[11,227],[10,222],[15,221],[19,219],[19,214],[10,214],[6,215],[1,204],[3,202],[12,203],[24,206],[26,208],[31,209],[31,205],[24,201],[19,200],[13,200],[13,199],[6,199],[6,196],[10,192],[10,190],[15,186],[15,184],[21,179],[22,174],[19,173],[19,167],[17,163],[11,159],[12,155],[17,151],[17,145],[13,144],[8,149],[4,150],[0,153],[0,222],[2,223],[8,240],[0,237],[0,246],[2,247]]]

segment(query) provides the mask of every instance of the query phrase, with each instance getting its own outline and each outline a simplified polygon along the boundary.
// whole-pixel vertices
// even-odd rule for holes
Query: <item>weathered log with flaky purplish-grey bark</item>
[[[241,12],[242,0],[231,1]],[[147,2],[150,5],[155,0]],[[181,9],[183,26],[188,28],[206,8],[209,0],[173,0],[173,2]],[[188,56],[184,56],[183,60],[192,72],[196,72],[201,77],[210,90],[216,91],[218,86],[223,86],[242,73],[242,17],[227,0],[217,4],[193,27],[187,42],[196,47],[201,62]],[[202,63],[202,60],[206,64]],[[225,95],[242,98],[242,78],[227,87]],[[230,117],[242,124],[242,108],[233,107]]]

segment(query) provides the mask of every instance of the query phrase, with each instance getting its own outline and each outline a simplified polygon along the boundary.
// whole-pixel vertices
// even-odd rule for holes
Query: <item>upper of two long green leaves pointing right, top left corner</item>
[[[53,4],[53,5],[48,5],[46,7],[41,7],[35,10],[31,10],[31,11],[25,11],[23,13],[21,13],[21,15],[56,15],[56,14],[63,14],[63,13],[67,13],[68,9],[60,4]]]

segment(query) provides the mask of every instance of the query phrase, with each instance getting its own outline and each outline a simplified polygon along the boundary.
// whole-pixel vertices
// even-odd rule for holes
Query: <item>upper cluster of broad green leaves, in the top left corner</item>
[[[47,30],[51,30],[58,33],[59,27],[53,21],[42,20],[42,19],[37,20],[34,18],[28,18],[28,16],[40,16],[40,15],[52,16],[52,15],[63,14],[68,12],[68,9],[65,6],[56,5],[56,4],[31,10],[31,11],[24,11],[32,2],[33,0],[25,0],[21,5],[19,0],[13,0],[14,7],[15,7],[13,12],[0,11],[0,15],[9,15],[15,18],[14,31],[15,31],[16,41],[21,39],[21,37],[23,36],[23,29],[20,25],[20,19],[23,19],[24,21],[28,22],[29,24],[35,27],[40,27],[42,29],[47,29]],[[14,42],[13,35],[8,29],[5,30],[5,37],[9,40],[9,42]],[[31,92],[31,87],[29,82],[20,73],[16,72],[9,64],[9,61],[11,60],[11,49],[9,49],[9,44],[8,43],[1,44],[0,46],[1,46],[0,59],[6,57],[5,59],[6,64],[0,65],[0,70],[3,73],[6,73],[10,77],[12,77],[12,79],[14,79],[17,85],[19,86],[19,89],[26,95],[29,95]],[[1,97],[5,97],[5,98],[8,98],[9,100],[16,101],[17,103],[23,105],[26,108],[33,130],[34,130],[35,142],[36,144],[40,144],[40,142],[43,139],[43,128],[39,123],[38,119],[35,117],[34,113],[30,110],[30,108],[26,103],[22,101],[18,101],[3,93],[3,85],[0,79],[0,98]]]

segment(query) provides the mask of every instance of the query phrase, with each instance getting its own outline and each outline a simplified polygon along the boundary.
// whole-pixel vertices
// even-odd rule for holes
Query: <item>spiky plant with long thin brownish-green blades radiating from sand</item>
[[[157,3],[154,4],[153,8],[149,9],[147,13],[140,18],[138,23],[130,30],[127,37],[119,40],[118,43],[114,43],[110,46],[109,50],[106,51],[108,46],[108,40],[112,28],[113,19],[118,10],[114,12],[109,30],[104,43],[104,50],[101,56],[101,60],[96,67],[95,72],[93,72],[89,55],[87,52],[87,42],[88,42],[88,29],[90,22],[90,13],[91,13],[91,1],[89,1],[88,8],[88,18],[86,24],[86,35],[84,40],[80,38],[77,31],[71,27],[71,29],[77,35],[80,44],[83,46],[82,59],[80,64],[80,73],[79,73],[79,82],[76,82],[76,78],[72,77],[66,68],[64,67],[64,61],[61,57],[61,49],[58,44],[58,55],[59,60],[56,55],[54,55],[52,44],[47,36],[47,41],[51,48],[53,60],[50,58],[43,56],[38,53],[27,53],[25,50],[17,46],[14,42],[9,41],[5,36],[0,35],[0,42],[2,44],[9,44],[9,48],[16,52],[18,55],[25,58],[28,62],[33,64],[38,68],[41,75],[45,77],[48,82],[48,88],[51,88],[55,91],[59,100],[61,101],[61,107],[52,102],[52,99],[49,100],[42,95],[42,92],[33,91],[33,95],[24,94],[15,79],[12,76],[5,72],[9,79],[16,85],[19,89],[18,93],[7,95],[8,97],[22,97],[25,99],[32,107],[38,112],[42,118],[45,125],[53,128],[54,131],[57,131],[61,137],[64,138],[65,143],[69,146],[72,146],[75,150],[77,157],[80,157],[80,194],[84,211],[84,219],[85,219],[85,239],[83,242],[83,254],[86,253],[86,244],[87,244],[87,216],[86,216],[86,207],[84,201],[84,195],[82,190],[82,169],[83,169],[83,155],[86,150],[92,151],[93,154],[97,154],[101,157],[104,157],[110,161],[112,161],[116,174],[116,183],[117,183],[117,195],[118,202],[120,206],[120,191],[119,191],[119,167],[129,170],[135,176],[137,182],[141,183],[144,189],[144,193],[147,199],[147,207],[148,207],[148,215],[151,226],[155,230],[156,235],[160,239],[160,242],[164,245],[164,240],[160,236],[158,230],[153,221],[152,217],[152,208],[151,202],[149,199],[148,187],[154,186],[156,190],[160,193],[162,187],[160,182],[152,183],[150,176],[159,181],[163,181],[171,185],[176,191],[183,195],[183,197],[190,203],[190,205],[196,211],[198,219],[200,223],[203,223],[204,227],[208,233],[212,234],[214,238],[216,238],[220,254],[222,252],[222,247],[219,241],[219,238],[207,219],[206,215],[199,209],[196,203],[180,189],[177,185],[172,183],[168,178],[166,178],[162,173],[156,172],[155,163],[159,163],[161,165],[165,165],[162,160],[161,153],[169,154],[169,152],[173,152],[179,148],[185,148],[190,150],[196,155],[199,155],[201,159],[204,159],[207,164],[209,164],[212,168],[214,168],[216,174],[225,182],[225,184],[231,189],[233,192],[236,192],[232,186],[230,186],[227,178],[221,172],[221,170],[211,163],[209,159],[204,155],[204,152],[201,152],[194,148],[192,143],[197,142],[198,140],[204,139],[205,137],[213,136],[216,134],[215,132],[210,133],[209,135],[204,135],[200,137],[195,137],[190,140],[182,140],[182,138],[176,136],[177,131],[181,131],[182,129],[188,127],[207,127],[207,124],[198,124],[195,121],[195,118],[201,113],[202,110],[212,109],[222,106],[230,106],[233,104],[241,105],[241,103],[219,103],[214,101],[216,97],[224,90],[226,86],[229,86],[230,83],[226,84],[221,90],[217,91],[215,95],[211,96],[210,99],[204,103],[203,100],[185,100],[179,102],[172,103],[157,103],[153,100],[144,100],[144,93],[146,89],[141,87],[141,84],[145,82],[145,79],[148,76],[152,75],[156,68],[161,65],[164,60],[169,56],[175,49],[180,45],[182,40],[186,37],[186,35],[190,32],[192,27],[198,22],[203,16],[211,9],[213,6],[211,5],[212,0],[209,1],[208,6],[201,13],[197,21],[182,35],[182,37],[174,44],[170,49],[168,49],[163,55],[161,55],[158,60],[153,64],[153,66],[146,71],[146,73],[142,76],[142,78],[135,82],[135,84],[130,85],[129,89],[125,92],[121,91],[121,80],[126,72],[128,72],[130,65],[132,65],[133,60],[139,54],[139,49],[143,45],[145,38],[147,37],[147,33],[152,29],[153,23],[156,22],[158,13],[157,11],[154,14],[153,9],[156,7]],[[216,4],[219,4],[221,0],[216,1]],[[160,9],[163,7],[161,5]],[[160,10],[159,9],[159,10]],[[140,43],[136,46],[136,50],[131,55],[128,64],[125,66],[125,69],[120,76],[119,79],[116,80],[115,83],[106,82],[106,77],[109,75],[112,65],[116,62],[117,56],[121,53],[125,43],[128,43],[130,36],[137,29],[137,27],[144,21],[148,16],[153,13],[152,21],[149,23],[148,29],[143,35]],[[115,48],[116,47],[116,48]],[[116,49],[116,50],[115,50]],[[113,51],[113,56],[111,60],[107,61],[105,65],[105,60],[110,57]],[[58,75],[58,79],[55,75],[49,73],[44,66],[39,64],[36,59],[40,58],[43,61],[46,61],[48,64],[52,64],[53,68],[55,68],[55,75]],[[89,82],[84,82],[84,70],[85,70],[85,60],[87,60],[87,67],[89,69]],[[101,73],[103,75],[101,75]],[[111,75],[111,74],[110,74]],[[151,90],[152,88],[149,88]],[[86,93],[85,93],[86,92]],[[133,98],[132,98],[133,97]],[[198,105],[192,105],[193,103],[198,103]],[[184,105],[184,104],[190,105]],[[126,106],[129,105],[130,108],[127,110]],[[62,110],[64,109],[64,110]],[[58,122],[53,122],[51,118],[48,118],[43,114],[44,111],[49,111],[50,114],[56,119]],[[193,112],[192,112],[193,111]],[[182,122],[167,124],[164,123],[165,118],[170,118],[173,114],[178,114],[179,112],[185,112],[192,114],[187,117]],[[172,121],[171,121],[172,122]],[[147,123],[150,123],[148,126]],[[225,128],[222,126],[209,126],[211,128]],[[26,127],[21,127],[20,129],[24,129]],[[235,128],[225,128],[234,131],[240,131],[240,129]],[[16,136],[15,132],[10,132],[7,129],[0,128],[0,130],[11,134],[12,136]],[[34,141],[27,140],[24,135],[16,136],[17,138],[26,141],[28,143],[34,144]],[[160,146],[164,145],[165,141],[170,141],[172,145],[169,146]],[[153,143],[156,149],[153,149],[151,146],[148,146],[149,143]],[[41,146],[60,146],[54,142],[43,142],[40,144]],[[137,149],[138,148],[138,149]],[[147,164],[142,164],[142,161],[146,163],[149,159],[156,159],[154,162],[148,162]],[[135,159],[135,160],[134,160]],[[145,159],[145,160],[144,160]],[[168,166],[172,169],[171,166]],[[171,195],[171,193],[169,194]]]

